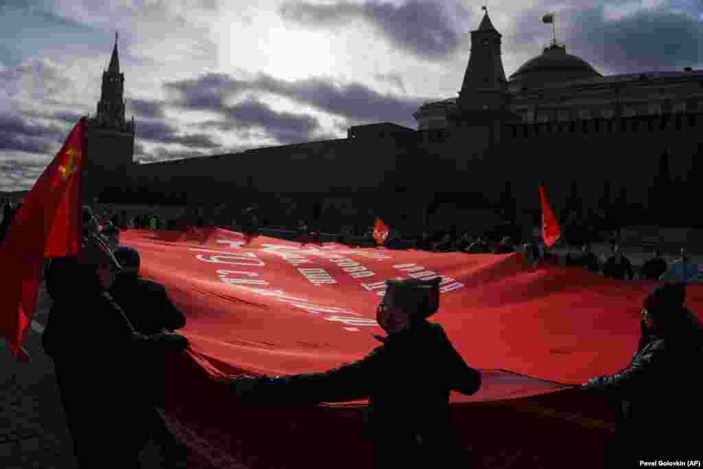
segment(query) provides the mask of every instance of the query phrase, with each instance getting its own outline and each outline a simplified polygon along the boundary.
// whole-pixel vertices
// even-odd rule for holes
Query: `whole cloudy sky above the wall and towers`
[[[0,0],[0,191],[30,188],[96,112],[120,33],[136,158],[237,152],[416,128],[456,96],[482,1]],[[557,41],[604,75],[703,68],[701,0],[490,0],[510,75]]]

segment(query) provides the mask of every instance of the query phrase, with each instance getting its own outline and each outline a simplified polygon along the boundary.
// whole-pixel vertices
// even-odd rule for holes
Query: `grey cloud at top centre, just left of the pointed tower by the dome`
[[[285,19],[308,27],[337,27],[361,19],[373,25],[396,48],[430,60],[448,58],[461,44],[453,15],[462,10],[450,2],[411,0],[400,6],[382,1],[352,4],[339,1],[318,5],[306,1],[288,1],[278,10]],[[466,13],[467,14],[467,13]]]

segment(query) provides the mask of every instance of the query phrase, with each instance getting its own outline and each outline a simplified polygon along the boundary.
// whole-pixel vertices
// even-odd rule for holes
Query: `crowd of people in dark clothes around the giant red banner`
[[[7,213],[2,224],[11,221],[13,215]],[[169,467],[186,461],[186,446],[169,432],[157,411],[164,403],[165,360],[188,347],[188,340],[175,332],[186,326],[186,317],[162,285],[141,278],[139,253],[120,244],[122,229],[161,226],[157,215],[145,215],[129,220],[120,212],[98,219],[90,207],[84,207],[82,252],[77,257],[51,259],[46,266],[46,290],[52,304],[42,345],[56,365],[80,468],[101,467],[108,454],[115,467],[138,467],[139,454],[149,438],[166,450]],[[256,236],[259,219],[255,208],[243,212],[242,219],[246,236]],[[304,221],[298,233],[311,235]],[[367,236],[373,237],[373,232]],[[385,244],[432,252],[520,251],[532,266],[546,262],[612,278],[636,277],[632,263],[617,245],[610,257],[601,260],[588,244],[580,253],[570,251],[562,259],[544,245],[515,245],[507,236],[496,242],[468,233],[457,238],[423,233],[410,242],[392,231]],[[654,451],[651,456],[682,458],[694,456],[698,449],[695,433],[681,430],[678,418],[692,416],[698,421],[702,416],[695,395],[699,387],[677,385],[675,379],[677,370],[695,367],[703,358],[703,325],[683,305],[683,285],[698,276],[685,250],[671,264],[655,251],[640,269],[639,278],[666,283],[657,286],[643,303],[640,342],[631,364],[619,373],[595,377],[579,386],[585,393],[612,394],[622,401],[625,423],[614,446],[618,454],[626,452],[619,451],[620,445],[635,444],[644,428],[649,429],[648,437],[665,432],[667,437],[677,437],[672,443],[670,439],[666,443],[664,439],[648,441],[647,449]],[[465,450],[449,424],[449,393],[473,394],[481,387],[482,377],[456,352],[443,328],[427,321],[439,308],[440,280],[387,281],[387,293],[376,314],[385,336],[375,336],[381,345],[363,359],[322,373],[232,377],[227,385],[233,398],[253,406],[304,406],[368,397],[365,420],[373,442],[374,467],[416,467],[420,462],[444,468],[465,461]],[[89,316],[77,314],[76,298]],[[86,373],[89,354],[96,352],[109,373]],[[426,363],[423,369],[432,368],[431,375],[415,372],[420,363]],[[132,430],[125,433],[125,428]],[[641,459],[643,453],[638,455]]]

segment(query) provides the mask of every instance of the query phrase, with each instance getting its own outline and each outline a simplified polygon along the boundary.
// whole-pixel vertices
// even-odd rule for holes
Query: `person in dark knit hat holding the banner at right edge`
[[[613,465],[700,456],[697,425],[703,359],[703,324],[684,307],[685,287],[658,285],[643,303],[640,341],[629,366],[613,375],[593,378],[583,390],[606,392],[622,401]],[[616,462],[617,461],[617,462]]]

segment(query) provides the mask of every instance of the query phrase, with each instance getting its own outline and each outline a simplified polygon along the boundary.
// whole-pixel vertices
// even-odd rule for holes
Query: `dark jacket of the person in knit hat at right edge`
[[[634,446],[635,453],[649,448],[657,458],[685,459],[700,451],[697,434],[685,422],[703,418],[703,380],[697,371],[703,360],[703,326],[688,309],[679,316],[681,321],[659,335],[650,335],[642,326],[630,365],[583,386],[621,401],[619,439],[621,445]]]

